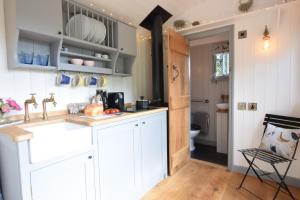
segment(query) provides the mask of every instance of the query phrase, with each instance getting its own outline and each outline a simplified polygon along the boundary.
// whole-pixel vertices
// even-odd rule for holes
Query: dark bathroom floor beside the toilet
[[[217,147],[203,144],[195,144],[195,147],[192,158],[227,166],[227,154],[218,153]]]

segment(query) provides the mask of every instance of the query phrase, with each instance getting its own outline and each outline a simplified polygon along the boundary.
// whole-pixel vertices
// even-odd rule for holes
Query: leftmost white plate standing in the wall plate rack
[[[87,39],[91,32],[91,22],[87,16],[77,14],[66,25],[66,33],[71,37]]]

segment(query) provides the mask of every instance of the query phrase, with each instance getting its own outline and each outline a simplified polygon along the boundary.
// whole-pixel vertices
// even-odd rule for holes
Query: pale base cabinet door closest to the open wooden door
[[[166,161],[166,123],[163,115],[142,120],[142,184],[145,191],[150,190],[165,176]]]

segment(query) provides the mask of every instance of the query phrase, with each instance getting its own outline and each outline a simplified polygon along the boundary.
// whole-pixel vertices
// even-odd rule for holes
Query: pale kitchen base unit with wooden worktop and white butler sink
[[[140,199],[167,176],[166,111],[150,112],[0,129],[4,199]]]

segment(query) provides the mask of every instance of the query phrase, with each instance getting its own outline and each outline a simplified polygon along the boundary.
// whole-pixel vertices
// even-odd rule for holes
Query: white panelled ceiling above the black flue
[[[104,11],[121,21],[134,26],[160,5],[173,14],[167,22],[170,26],[174,20],[183,19],[187,23],[202,23],[237,15],[240,0],[77,0],[85,5]],[[266,8],[282,3],[284,0],[254,0],[251,10]]]

